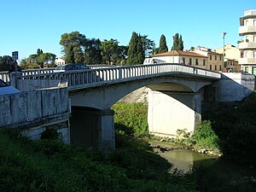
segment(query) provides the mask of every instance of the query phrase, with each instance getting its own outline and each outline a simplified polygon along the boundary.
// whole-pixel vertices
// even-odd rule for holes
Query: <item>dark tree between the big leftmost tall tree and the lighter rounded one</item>
[[[101,55],[101,41],[100,39],[91,38],[87,40],[87,43],[84,47],[84,63],[85,64],[100,64],[102,63]]]

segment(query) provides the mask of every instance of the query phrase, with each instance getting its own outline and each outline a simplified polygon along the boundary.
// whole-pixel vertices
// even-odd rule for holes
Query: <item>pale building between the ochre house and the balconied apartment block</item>
[[[241,66],[238,64],[240,50],[232,44],[225,44],[224,48],[215,49],[215,52],[224,54],[224,72],[241,72]]]

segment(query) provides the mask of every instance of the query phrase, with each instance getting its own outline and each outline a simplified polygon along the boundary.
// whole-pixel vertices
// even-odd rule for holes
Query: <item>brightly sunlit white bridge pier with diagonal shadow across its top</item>
[[[194,131],[200,122],[200,93],[148,91],[149,133],[174,137],[177,130]]]

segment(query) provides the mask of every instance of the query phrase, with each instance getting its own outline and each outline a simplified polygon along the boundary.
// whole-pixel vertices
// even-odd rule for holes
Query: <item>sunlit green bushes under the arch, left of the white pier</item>
[[[148,135],[148,108],[143,103],[122,103],[113,105],[115,128],[127,135],[137,137]]]

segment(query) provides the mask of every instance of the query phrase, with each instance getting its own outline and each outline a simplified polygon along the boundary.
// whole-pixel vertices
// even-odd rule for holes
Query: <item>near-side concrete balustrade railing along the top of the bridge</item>
[[[204,78],[220,79],[220,73],[207,71],[201,68],[189,67],[180,64],[150,64],[125,67],[103,67],[90,70],[79,70],[65,73],[40,73],[24,75],[22,79],[49,79],[67,82],[69,88],[75,88],[81,84],[99,84],[104,82],[119,82],[131,79],[144,79],[168,75],[171,73],[189,74]]]

